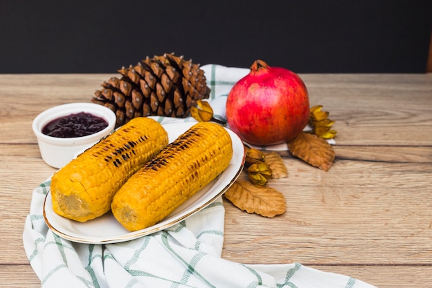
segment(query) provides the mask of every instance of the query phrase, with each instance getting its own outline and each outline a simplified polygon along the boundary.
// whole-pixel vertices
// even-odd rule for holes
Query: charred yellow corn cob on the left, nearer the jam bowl
[[[121,185],[167,144],[161,124],[132,119],[52,176],[52,209],[79,222],[103,215]]]

